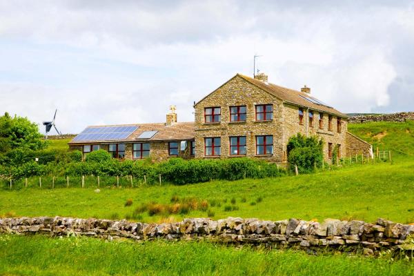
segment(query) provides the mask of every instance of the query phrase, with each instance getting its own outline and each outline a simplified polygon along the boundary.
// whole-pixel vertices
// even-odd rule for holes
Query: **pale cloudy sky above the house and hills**
[[[193,121],[253,56],[342,112],[414,111],[412,1],[0,0],[0,114],[41,126]],[[52,133],[51,133],[52,134]]]

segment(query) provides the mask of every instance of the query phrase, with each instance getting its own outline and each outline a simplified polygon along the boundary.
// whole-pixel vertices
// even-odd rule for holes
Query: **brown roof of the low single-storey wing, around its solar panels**
[[[92,144],[92,143],[110,143],[112,142],[140,142],[140,141],[181,141],[191,140],[195,137],[194,122],[175,123],[166,126],[164,123],[155,124],[129,124],[129,125],[113,125],[113,126],[138,126],[137,130],[132,132],[126,139],[117,140],[88,140],[88,141],[70,141],[68,144]],[[88,128],[98,128],[102,126],[88,126]],[[139,139],[142,132],[148,130],[157,130],[157,134],[149,139]],[[74,138],[75,139],[75,138]]]

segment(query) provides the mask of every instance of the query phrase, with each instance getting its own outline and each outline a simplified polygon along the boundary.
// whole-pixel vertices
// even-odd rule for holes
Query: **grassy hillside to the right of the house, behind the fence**
[[[348,131],[395,157],[414,157],[414,121],[349,124]]]

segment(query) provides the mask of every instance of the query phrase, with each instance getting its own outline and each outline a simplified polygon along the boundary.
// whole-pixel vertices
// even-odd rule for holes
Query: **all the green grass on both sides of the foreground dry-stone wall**
[[[0,216],[71,216],[150,221],[184,217],[362,219],[414,222],[414,123],[368,123],[349,130],[393,162],[353,165],[297,177],[211,181],[140,188],[0,190]],[[63,140],[53,147],[65,147]],[[132,199],[132,205],[126,201]],[[168,213],[186,201],[208,206]],[[150,214],[152,203],[160,212]],[[135,211],[137,209],[141,209]],[[208,242],[103,242],[0,235],[0,275],[414,275],[413,261],[234,248]]]

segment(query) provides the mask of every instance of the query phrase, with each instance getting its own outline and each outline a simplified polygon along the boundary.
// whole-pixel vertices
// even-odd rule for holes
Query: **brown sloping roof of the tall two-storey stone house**
[[[311,110],[322,111],[322,112],[326,112],[326,113],[329,113],[329,114],[337,115],[339,117],[348,118],[348,116],[346,114],[340,112],[339,110],[336,110],[335,108],[332,108],[330,106],[324,106],[324,105],[312,103],[311,101],[308,101],[308,100],[304,99],[303,97],[313,97],[311,94],[308,94],[306,92],[300,92],[300,91],[293,90],[293,89],[290,89],[290,88],[284,88],[282,86],[277,86],[276,84],[273,84],[273,83],[259,81],[258,79],[253,79],[251,77],[247,77],[247,76],[242,75],[242,74],[235,75],[235,77],[237,77],[237,76],[242,77],[244,80],[246,80],[249,83],[252,83],[253,85],[257,86],[258,88],[261,88],[262,90],[265,90],[266,92],[274,95],[275,97],[277,97],[278,99],[281,99],[285,103],[292,103],[295,106],[310,108]],[[210,93],[210,94],[212,94],[212,93]],[[205,99],[206,97],[204,97],[203,99]],[[202,99],[201,99],[201,101],[202,101]],[[197,103],[199,103],[199,102],[197,102]],[[195,105],[197,105],[197,103]]]

